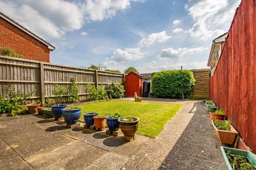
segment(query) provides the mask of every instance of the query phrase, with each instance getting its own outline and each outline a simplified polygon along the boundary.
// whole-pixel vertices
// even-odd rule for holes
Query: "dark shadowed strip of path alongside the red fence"
[[[225,169],[206,106],[197,102],[189,113],[193,117],[158,169]]]

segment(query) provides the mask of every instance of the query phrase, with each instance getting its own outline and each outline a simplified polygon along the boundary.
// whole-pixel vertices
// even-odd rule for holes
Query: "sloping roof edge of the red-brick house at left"
[[[43,38],[37,36],[35,33],[29,31],[27,28],[23,27],[21,24],[19,24],[18,22],[14,21],[13,19],[11,19],[9,16],[5,15],[4,13],[0,12],[0,17],[3,18],[4,20],[10,22],[11,24],[15,25],[16,27],[18,27],[22,31],[28,33],[30,36],[34,37],[38,41],[41,41],[41,43],[43,43],[46,46],[48,46],[48,48],[51,51],[55,49],[55,47],[53,45],[51,45],[50,43],[48,43],[46,40],[44,40]]]

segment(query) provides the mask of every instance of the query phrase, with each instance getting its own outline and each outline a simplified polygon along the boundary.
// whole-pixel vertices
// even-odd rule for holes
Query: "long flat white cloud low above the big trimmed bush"
[[[206,50],[205,47],[197,47],[197,48],[166,48],[162,49],[161,56],[162,58],[179,58],[185,55],[195,54],[197,52],[202,52]]]

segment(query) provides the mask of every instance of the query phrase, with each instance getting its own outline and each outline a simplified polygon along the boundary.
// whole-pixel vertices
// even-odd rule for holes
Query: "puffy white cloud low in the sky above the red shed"
[[[131,62],[141,59],[145,54],[145,52],[141,52],[140,48],[125,48],[125,50],[118,48],[114,51],[110,60],[115,62]]]

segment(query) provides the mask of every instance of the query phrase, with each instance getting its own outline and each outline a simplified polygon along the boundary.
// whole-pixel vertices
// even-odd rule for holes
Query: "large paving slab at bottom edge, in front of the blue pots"
[[[74,140],[43,154],[26,158],[36,169],[85,169],[107,151]]]

